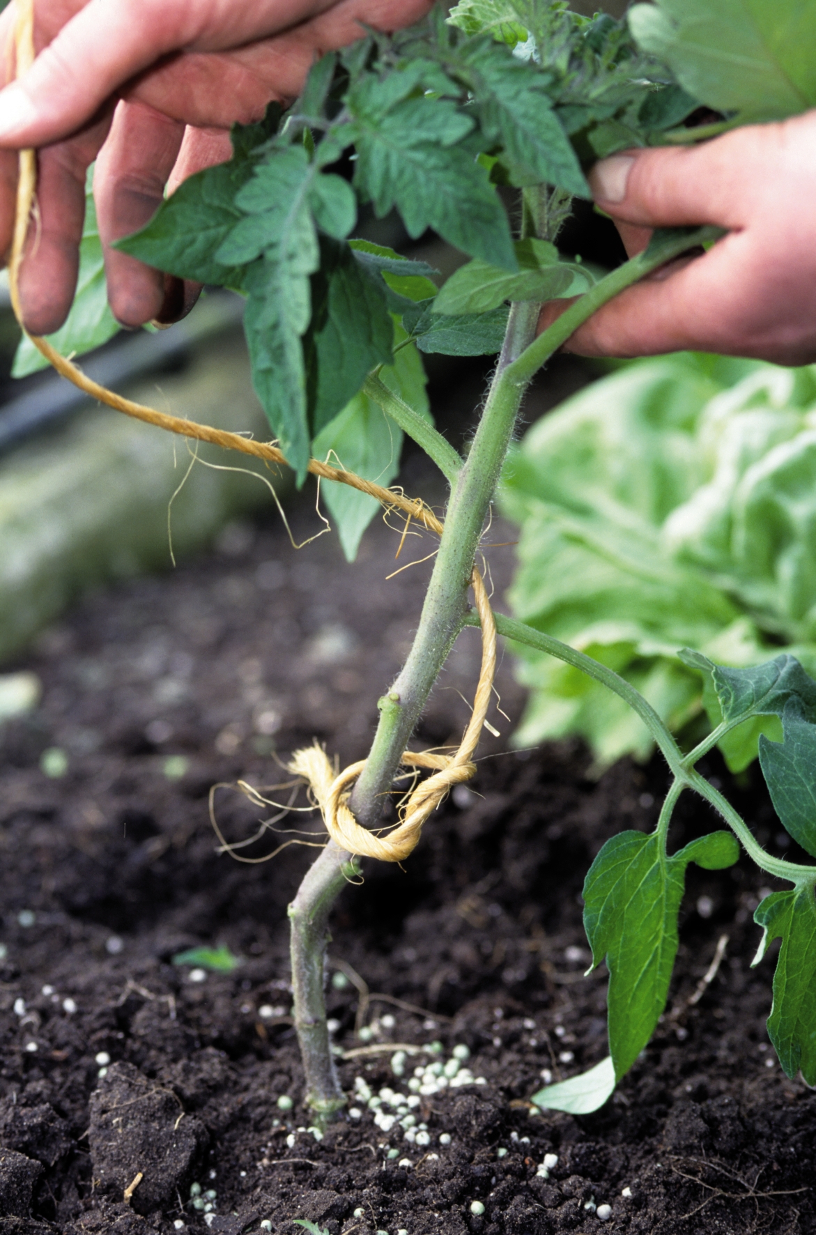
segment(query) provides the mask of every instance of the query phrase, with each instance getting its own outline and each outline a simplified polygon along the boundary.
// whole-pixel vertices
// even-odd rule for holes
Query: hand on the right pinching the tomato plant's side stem
[[[694,148],[627,151],[595,164],[595,201],[631,256],[653,227],[714,224],[728,235],[599,309],[565,345],[580,356],[718,352],[816,361],[816,112]],[[569,301],[542,310],[539,330]]]

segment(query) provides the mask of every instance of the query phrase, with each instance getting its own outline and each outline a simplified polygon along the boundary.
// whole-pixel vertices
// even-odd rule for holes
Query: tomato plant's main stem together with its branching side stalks
[[[533,222],[541,226],[543,220],[548,227],[547,219],[548,207],[542,207],[539,217],[533,219]],[[435,431],[433,436],[425,432],[416,424],[418,417],[414,417],[410,409],[398,406],[393,401],[395,396],[383,383],[379,383],[383,385],[383,390],[379,390],[377,385],[379,379],[369,379],[367,383],[367,393],[370,393],[378,403],[380,399],[388,401],[391,405],[386,409],[389,415],[396,411],[394,419],[400,424],[398,417],[401,417],[404,421],[401,427],[406,432],[411,436],[422,433],[426,441],[421,445],[428,448],[431,457],[447,475],[452,493],[418,630],[402,671],[389,694],[380,700],[380,721],[374,742],[352,793],[349,805],[363,826],[370,827],[377,823],[384,797],[391,789],[400,756],[453,641],[465,624],[467,593],[473,562],[528,382],[595,309],[648,270],[669,261],[684,248],[700,243],[702,238],[710,238],[709,232],[686,233],[681,240],[649,246],[647,253],[639,254],[601,280],[538,338],[536,327],[539,306],[531,303],[512,305],[484,412],[464,463],[459,464],[458,456],[448,443],[441,445],[444,440]],[[405,410],[410,415],[406,416]],[[505,625],[507,621],[509,619],[502,619]],[[517,625],[523,626],[523,624]],[[501,626],[499,629],[501,630]],[[548,650],[544,647],[544,651]],[[560,652],[556,655],[562,655],[562,659],[568,659],[570,663],[578,663],[570,657],[580,657],[580,653],[574,653],[572,648],[565,652],[567,655]],[[647,724],[660,750],[667,755],[675,776],[688,783],[689,773],[679,767],[680,752],[657,713],[628,687],[628,683],[617,678],[617,674],[597,666],[589,657],[581,657],[581,661],[586,661],[596,671],[602,671],[604,676],[609,674],[620,683],[620,688],[612,689],[617,689],[618,694],[626,692],[623,697],[630,697],[627,701]],[[584,667],[583,663],[579,667]],[[593,677],[600,677],[600,673],[593,672]],[[602,677],[600,679],[604,680]],[[295,1025],[307,1078],[307,1102],[321,1119],[331,1118],[344,1104],[326,1028],[323,968],[328,913],[349,872],[356,869],[349,860],[351,856],[338,846],[327,845],[307,872],[289,908]]]

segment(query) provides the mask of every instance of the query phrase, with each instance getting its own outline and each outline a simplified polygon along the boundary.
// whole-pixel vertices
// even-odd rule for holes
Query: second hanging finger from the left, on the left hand
[[[107,299],[123,326],[142,326],[160,314],[165,282],[159,270],[111,245],[143,227],[160,206],[183,136],[178,121],[142,103],[121,101],[96,161],[94,199]]]

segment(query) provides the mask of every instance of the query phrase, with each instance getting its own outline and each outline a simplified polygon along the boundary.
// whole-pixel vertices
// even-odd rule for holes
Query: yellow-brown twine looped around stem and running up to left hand
[[[35,61],[33,0],[16,0],[16,9],[15,77],[21,77],[22,73],[31,68]],[[156,425],[158,429],[179,433],[183,437],[194,438],[200,442],[211,442],[225,450],[239,451],[242,454],[252,454],[269,463],[288,467],[289,463],[283,451],[270,442],[256,442],[252,438],[242,437],[241,433],[230,433],[221,429],[212,429],[209,425],[199,425],[196,421],[186,420],[181,416],[170,416],[167,412],[157,411],[154,408],[147,408],[143,404],[133,403],[131,399],[125,399],[122,395],[115,394],[112,390],[86,377],[77,364],[52,347],[48,340],[37,335],[30,335],[26,331],[20,306],[19,277],[28,222],[35,206],[36,189],[36,151],[22,149],[19,156],[16,215],[14,241],[9,259],[9,290],[17,322],[37,351],[46,357],[62,377],[67,378],[80,390],[84,390],[91,399],[106,404],[115,411],[121,411],[135,420]],[[409,521],[414,519],[437,536],[442,535],[442,522],[421,499],[406,498],[399,490],[385,489],[383,485],[365,480],[353,472],[331,467],[328,463],[321,463],[315,458],[309,461],[307,471],[312,475],[326,480],[335,480],[338,484],[347,484],[360,493],[367,493],[372,498],[377,498],[386,509],[401,510],[409,516]],[[364,760],[349,764],[336,777],[326,757],[326,752],[320,746],[296,751],[293,756],[290,769],[309,782],[321,808],[326,830],[332,840],[349,853],[377,857],[383,862],[401,862],[416,847],[422,831],[422,824],[436,810],[448,790],[456,784],[469,781],[475,772],[472,756],[479,742],[493,690],[493,678],[496,667],[496,625],[484,580],[475,567],[473,568],[470,584],[481,619],[481,671],[470,721],[454,755],[433,755],[431,752],[416,751],[404,752],[400,761],[402,766],[427,768],[433,771],[433,776],[421,782],[412,790],[407,803],[402,808],[402,818],[391,832],[386,836],[378,836],[374,832],[367,831],[367,829],[357,823],[352,810],[347,805],[348,787],[365,767]]]

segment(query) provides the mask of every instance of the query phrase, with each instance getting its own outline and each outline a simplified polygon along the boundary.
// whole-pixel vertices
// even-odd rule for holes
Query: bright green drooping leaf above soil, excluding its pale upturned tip
[[[620,832],[604,845],[584,883],[584,927],[593,966],[606,957],[609,1042],[617,1079],[649,1041],[665,1007],[678,950],[678,910],[689,862],[732,866],[739,846],[712,832],[668,857],[657,835]]]

